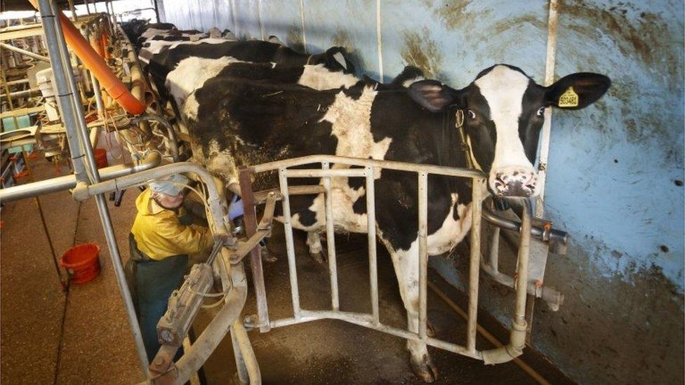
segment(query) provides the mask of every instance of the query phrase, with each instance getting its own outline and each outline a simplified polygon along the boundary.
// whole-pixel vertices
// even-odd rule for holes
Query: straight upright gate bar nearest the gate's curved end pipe
[[[481,257],[481,187],[482,179],[472,180],[471,193],[471,259],[469,266],[469,309],[467,325],[467,349],[476,351],[476,328],[478,316],[478,278]]]

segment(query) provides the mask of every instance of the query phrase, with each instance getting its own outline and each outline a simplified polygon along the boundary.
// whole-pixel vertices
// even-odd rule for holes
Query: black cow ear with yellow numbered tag
[[[596,102],[611,86],[611,79],[591,72],[578,72],[547,87],[545,102],[563,109],[581,109]]]

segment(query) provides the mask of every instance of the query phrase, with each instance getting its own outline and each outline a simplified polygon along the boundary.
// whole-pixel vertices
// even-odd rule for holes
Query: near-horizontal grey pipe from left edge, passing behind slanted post
[[[156,152],[147,155],[142,162],[137,165],[133,164],[119,164],[116,166],[109,166],[100,169],[100,178],[102,180],[110,180],[124,175],[138,173],[140,171],[149,170],[157,165],[161,158]],[[49,194],[56,191],[66,191],[73,189],[77,185],[76,177],[72,175],[65,175],[63,177],[55,177],[48,180],[41,180],[39,182],[32,182],[27,184],[19,184],[6,189],[0,189],[0,201],[3,203],[16,201],[22,198],[31,198],[43,194]]]

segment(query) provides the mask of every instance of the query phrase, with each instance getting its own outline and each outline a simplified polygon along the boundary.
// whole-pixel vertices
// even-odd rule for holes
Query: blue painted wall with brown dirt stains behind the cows
[[[165,1],[167,20],[183,28],[216,23],[259,38],[263,27],[291,46],[305,41],[310,53],[346,46],[375,79],[412,64],[460,88],[506,62],[543,80],[547,1],[380,0],[380,18],[377,5]],[[559,4],[555,79],[580,71],[613,79],[596,104],[552,119],[546,216],[573,241],[547,269],[566,304],[541,311],[533,345],[579,381],[671,381],[683,372],[683,14],[677,0]],[[458,262],[434,267],[463,286]],[[497,290],[484,286],[481,302],[508,323]]]

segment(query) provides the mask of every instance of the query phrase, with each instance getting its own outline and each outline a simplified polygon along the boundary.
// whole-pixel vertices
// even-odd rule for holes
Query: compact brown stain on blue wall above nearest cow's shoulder
[[[404,32],[405,47],[401,56],[408,65],[422,70],[427,78],[435,79],[440,73],[442,53],[430,38],[430,31],[424,28],[421,33]]]

